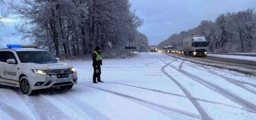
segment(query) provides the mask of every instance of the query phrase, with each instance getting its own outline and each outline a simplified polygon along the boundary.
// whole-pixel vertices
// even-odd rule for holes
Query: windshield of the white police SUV
[[[39,63],[57,61],[47,51],[17,51],[18,57],[22,63]]]

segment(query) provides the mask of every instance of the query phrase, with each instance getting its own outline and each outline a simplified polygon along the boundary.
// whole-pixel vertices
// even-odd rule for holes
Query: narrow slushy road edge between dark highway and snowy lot
[[[183,56],[176,55],[176,54],[168,54],[168,53],[165,53],[165,54],[173,56],[173,57],[178,58],[178,59],[182,59],[182,60],[186,60],[186,61],[189,61],[189,62],[192,62],[192,63],[196,63],[196,64],[202,64],[202,65],[217,67],[217,68],[221,68],[221,69],[227,69],[227,70],[230,70],[230,71],[241,72],[241,73],[245,73],[245,74],[249,74],[249,75],[256,75],[256,70],[254,70],[254,69],[249,69],[249,68],[245,68],[245,67],[238,67],[238,66],[230,66],[230,65],[224,65],[224,64],[218,64],[218,63],[203,62],[203,61],[190,59],[190,58],[183,57]]]

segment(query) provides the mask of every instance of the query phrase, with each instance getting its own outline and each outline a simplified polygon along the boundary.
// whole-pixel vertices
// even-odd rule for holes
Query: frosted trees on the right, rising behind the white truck
[[[215,22],[202,21],[196,28],[173,34],[159,47],[173,45],[179,49],[182,40],[192,35],[204,35],[212,52],[256,52],[255,9],[221,14]]]

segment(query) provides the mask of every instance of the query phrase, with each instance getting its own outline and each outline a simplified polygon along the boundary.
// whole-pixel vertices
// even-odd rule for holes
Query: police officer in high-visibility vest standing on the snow
[[[100,53],[101,53],[101,50],[98,46],[95,48],[94,52],[92,53],[93,67],[94,67],[94,76],[93,76],[94,83],[103,82],[100,79],[100,74],[101,74],[100,66],[102,66],[102,57]],[[97,78],[97,82],[96,82],[96,78]]]

